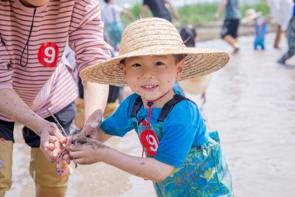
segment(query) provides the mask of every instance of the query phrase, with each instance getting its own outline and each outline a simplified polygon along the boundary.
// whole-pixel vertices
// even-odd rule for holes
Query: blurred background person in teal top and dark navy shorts
[[[228,42],[233,48],[234,53],[239,50],[239,44],[237,42],[237,29],[240,20],[240,12],[238,0],[222,0],[218,9],[215,12],[214,20],[219,19],[220,13],[226,9],[225,20],[222,27],[221,38]]]

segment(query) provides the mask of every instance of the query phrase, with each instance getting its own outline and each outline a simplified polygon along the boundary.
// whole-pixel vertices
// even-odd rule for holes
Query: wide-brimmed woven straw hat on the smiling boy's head
[[[115,86],[128,86],[119,62],[128,57],[187,54],[179,80],[214,72],[229,61],[226,52],[214,49],[186,48],[176,27],[160,18],[137,20],[122,34],[119,56],[90,66],[80,72],[84,80]]]

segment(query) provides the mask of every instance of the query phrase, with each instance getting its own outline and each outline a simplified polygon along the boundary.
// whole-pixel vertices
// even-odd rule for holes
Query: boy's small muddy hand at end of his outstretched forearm
[[[106,150],[110,147],[103,143],[89,139],[88,137],[78,136],[76,139],[83,144],[70,146],[70,157],[73,158],[75,164],[94,164],[102,162],[106,155]]]

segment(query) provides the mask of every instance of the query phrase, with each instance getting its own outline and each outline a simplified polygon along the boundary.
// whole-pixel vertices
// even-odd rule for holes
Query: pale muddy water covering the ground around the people
[[[266,51],[252,49],[253,37],[240,37],[239,54],[212,74],[202,114],[210,130],[218,130],[226,151],[237,197],[284,197],[295,191],[295,58],[290,66],[275,61],[287,49],[272,48],[274,34],[266,36]],[[222,40],[198,43],[231,53]],[[199,95],[187,95],[201,103]],[[201,105],[201,104],[200,104]],[[7,197],[32,197],[29,147],[16,127],[13,152],[13,184]],[[140,156],[135,133],[113,138],[108,144]],[[106,164],[79,165],[69,180],[68,197],[151,197],[152,184]]]

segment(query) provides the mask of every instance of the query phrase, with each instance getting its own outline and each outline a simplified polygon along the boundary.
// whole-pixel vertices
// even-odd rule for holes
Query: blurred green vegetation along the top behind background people
[[[204,25],[208,21],[213,21],[214,13],[216,9],[218,8],[218,3],[211,3],[211,4],[195,4],[195,5],[185,5],[183,7],[180,7],[177,9],[180,20],[174,21],[175,24],[181,25],[184,23],[189,23],[192,25]],[[142,4],[135,4],[131,9],[129,9],[135,16],[134,20],[140,19],[140,13],[141,13]],[[269,16],[269,8],[267,7],[266,3],[260,2],[257,3],[254,6],[251,5],[243,5],[240,7],[240,11],[242,14],[242,17],[245,16],[245,12],[249,8],[254,8],[256,11],[262,11],[264,16]],[[148,10],[148,17],[151,17],[152,14]],[[220,16],[220,20],[223,20],[224,18],[224,11],[222,12]],[[132,21],[130,21],[126,16],[122,16],[122,22],[126,26]]]

